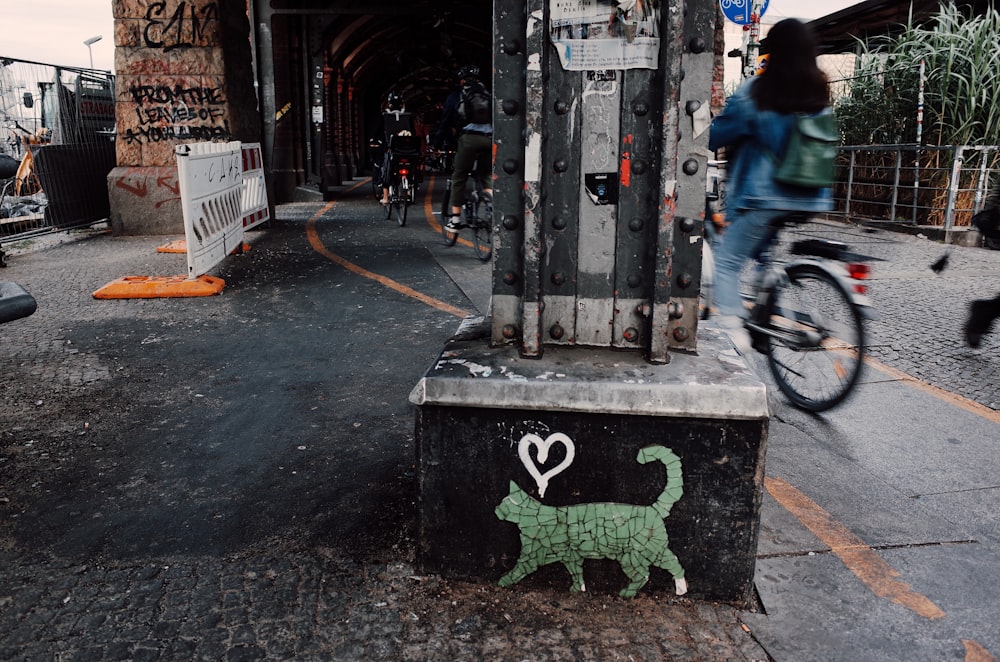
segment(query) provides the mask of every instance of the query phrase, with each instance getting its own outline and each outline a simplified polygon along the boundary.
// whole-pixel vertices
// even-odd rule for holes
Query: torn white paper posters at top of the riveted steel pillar
[[[656,69],[659,0],[549,0],[549,16],[567,71]]]

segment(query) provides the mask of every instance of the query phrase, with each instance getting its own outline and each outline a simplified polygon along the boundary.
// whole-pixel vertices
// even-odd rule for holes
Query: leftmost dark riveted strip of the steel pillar
[[[493,186],[493,344],[523,337],[521,318],[525,296],[524,237],[525,117],[528,107],[525,57],[528,25],[526,7],[520,2],[497,0],[493,11],[493,143],[496,163]],[[540,91],[539,91],[540,92]],[[536,182],[537,162],[531,177]],[[537,186],[535,189],[537,193]],[[538,305],[537,278],[532,278]],[[536,343],[537,344],[537,343]]]

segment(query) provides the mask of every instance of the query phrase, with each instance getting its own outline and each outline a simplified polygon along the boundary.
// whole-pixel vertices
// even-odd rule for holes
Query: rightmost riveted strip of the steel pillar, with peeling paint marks
[[[672,34],[679,38],[667,43],[662,53],[662,66],[676,71],[667,76],[669,82],[676,81],[676,93],[668,91],[666,96],[677,103],[664,113],[664,197],[650,347],[650,360],[659,363],[669,362],[670,349],[697,349],[716,11],[710,0],[690,0],[683,10],[674,5]]]

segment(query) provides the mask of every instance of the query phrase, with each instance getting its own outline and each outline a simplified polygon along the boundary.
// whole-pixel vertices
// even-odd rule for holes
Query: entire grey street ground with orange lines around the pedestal
[[[428,182],[432,184],[433,182]],[[0,326],[0,658],[995,660],[1000,337],[960,342],[1000,253],[819,223],[873,258],[864,383],[772,395],[758,608],[417,574],[410,389],[489,265],[364,181],[282,206],[220,296],[99,301],[185,273],[173,238],[9,246]],[[752,360],[766,381],[763,366]]]

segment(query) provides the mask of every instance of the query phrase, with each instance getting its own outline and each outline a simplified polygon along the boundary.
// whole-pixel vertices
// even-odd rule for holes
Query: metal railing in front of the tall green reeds
[[[851,218],[967,227],[997,182],[1000,146],[842,147],[834,198]]]

